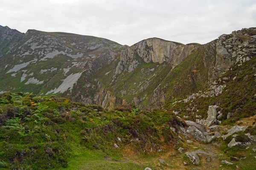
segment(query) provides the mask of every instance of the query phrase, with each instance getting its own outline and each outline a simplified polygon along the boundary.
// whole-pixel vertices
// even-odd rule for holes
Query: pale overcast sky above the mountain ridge
[[[256,27],[256,0],[0,0],[0,25],[107,38],[205,44]]]

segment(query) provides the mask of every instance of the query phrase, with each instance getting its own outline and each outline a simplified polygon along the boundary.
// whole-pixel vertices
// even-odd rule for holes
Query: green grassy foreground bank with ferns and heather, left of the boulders
[[[169,112],[131,106],[105,111],[97,105],[32,94],[3,94],[0,109],[0,167],[7,169],[140,169],[145,164],[122,161],[122,150],[147,155],[152,147],[155,153],[176,141],[169,126],[180,123]]]

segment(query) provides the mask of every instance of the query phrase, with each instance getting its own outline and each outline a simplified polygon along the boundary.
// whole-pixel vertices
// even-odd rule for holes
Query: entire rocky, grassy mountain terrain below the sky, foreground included
[[[255,169],[256,28],[130,47],[4,29],[0,169]]]

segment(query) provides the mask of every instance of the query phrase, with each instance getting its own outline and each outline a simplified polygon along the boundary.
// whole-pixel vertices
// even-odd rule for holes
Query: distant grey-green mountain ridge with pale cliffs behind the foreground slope
[[[5,29],[10,37],[19,33]],[[54,94],[108,109],[125,103],[162,108],[206,91],[232,65],[250,60],[256,28],[223,34],[204,45],[150,38],[129,47],[69,33],[28,30],[19,35],[6,39],[15,45],[0,58],[2,93]]]

